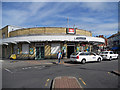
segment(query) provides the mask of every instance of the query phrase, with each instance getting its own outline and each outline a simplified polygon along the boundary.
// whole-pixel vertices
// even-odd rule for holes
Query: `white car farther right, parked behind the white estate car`
[[[110,61],[118,58],[118,54],[114,54],[113,51],[103,51],[100,55],[103,59],[109,59]]]

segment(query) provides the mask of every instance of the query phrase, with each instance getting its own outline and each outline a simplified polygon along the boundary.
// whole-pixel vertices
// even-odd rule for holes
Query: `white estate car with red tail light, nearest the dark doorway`
[[[70,55],[70,60],[73,62],[81,62],[81,63],[86,63],[90,61],[102,61],[102,57],[100,55],[96,55],[93,52],[77,52],[77,53],[72,53]]]

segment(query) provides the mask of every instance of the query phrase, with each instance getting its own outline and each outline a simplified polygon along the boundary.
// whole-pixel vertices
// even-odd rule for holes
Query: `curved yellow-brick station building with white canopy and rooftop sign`
[[[1,29],[2,58],[16,54],[17,59],[57,58],[60,50],[64,58],[76,51],[92,52],[104,39],[92,37],[90,31],[65,27],[22,28],[7,25]]]

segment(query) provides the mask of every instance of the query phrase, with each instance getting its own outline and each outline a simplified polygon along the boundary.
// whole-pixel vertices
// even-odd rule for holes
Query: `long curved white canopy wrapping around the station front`
[[[80,35],[33,35],[9,37],[0,40],[1,44],[19,43],[19,42],[39,42],[39,41],[75,41],[75,42],[100,42],[105,43],[103,38],[80,36]]]

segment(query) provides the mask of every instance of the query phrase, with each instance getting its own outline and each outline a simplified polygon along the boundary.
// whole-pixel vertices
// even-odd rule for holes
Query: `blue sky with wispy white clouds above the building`
[[[69,18],[69,23],[67,22]],[[70,27],[106,37],[118,31],[117,2],[2,2],[2,27]]]

